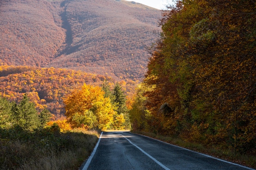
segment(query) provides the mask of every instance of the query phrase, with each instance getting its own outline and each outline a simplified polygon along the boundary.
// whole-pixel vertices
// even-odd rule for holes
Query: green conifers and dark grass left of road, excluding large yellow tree
[[[51,114],[36,111],[25,94],[9,102],[0,96],[0,169],[78,169],[98,141],[98,131],[49,122]],[[47,125],[47,122],[49,125]]]

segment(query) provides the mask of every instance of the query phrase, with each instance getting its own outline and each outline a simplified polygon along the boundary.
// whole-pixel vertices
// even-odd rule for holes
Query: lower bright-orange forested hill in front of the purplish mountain
[[[11,101],[20,101],[25,93],[36,103],[36,109],[44,107],[57,118],[65,113],[63,98],[74,88],[84,83],[101,85],[108,81],[111,87],[115,81],[110,76],[90,74],[82,71],[61,68],[39,68],[28,66],[0,66],[0,96]],[[131,80],[120,81],[127,92],[133,93],[134,85],[138,82]]]

